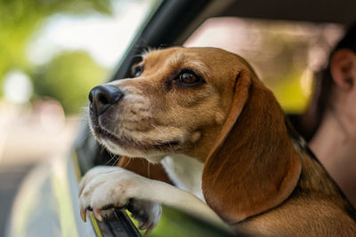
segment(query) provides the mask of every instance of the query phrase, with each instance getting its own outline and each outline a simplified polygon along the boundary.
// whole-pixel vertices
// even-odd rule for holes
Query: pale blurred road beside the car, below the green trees
[[[0,237],[28,171],[53,154],[65,154],[76,137],[79,119],[59,112],[24,110],[0,101]]]

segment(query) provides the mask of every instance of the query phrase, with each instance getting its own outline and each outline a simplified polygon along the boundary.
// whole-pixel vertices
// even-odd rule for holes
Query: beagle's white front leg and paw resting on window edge
[[[160,217],[160,206],[157,206],[160,203],[227,227],[214,210],[195,195],[120,167],[98,166],[89,170],[80,182],[79,196],[84,219],[86,209],[93,209],[94,216],[101,220],[102,209],[128,208],[139,212],[141,206],[144,211],[153,212],[142,216],[150,216],[150,223],[142,226],[151,229]]]

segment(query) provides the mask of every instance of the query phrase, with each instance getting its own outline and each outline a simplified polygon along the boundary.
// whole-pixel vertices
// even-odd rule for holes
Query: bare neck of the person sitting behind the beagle
[[[309,143],[336,184],[356,206],[356,134],[350,123],[342,120],[336,111],[328,111],[320,128]]]

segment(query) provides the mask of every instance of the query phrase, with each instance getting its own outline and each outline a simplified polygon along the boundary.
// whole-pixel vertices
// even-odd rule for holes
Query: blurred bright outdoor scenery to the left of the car
[[[69,151],[155,1],[0,0],[0,236],[21,180]],[[59,155],[60,154],[60,155]]]

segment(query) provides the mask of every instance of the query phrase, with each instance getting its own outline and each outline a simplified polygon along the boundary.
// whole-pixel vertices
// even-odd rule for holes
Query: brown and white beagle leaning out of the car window
[[[126,164],[161,164],[169,180],[94,167],[80,183],[84,220],[87,209],[101,220],[127,208],[150,231],[164,204],[250,234],[356,235],[351,204],[244,59],[174,47],[142,56],[133,75],[90,92],[93,135]]]

